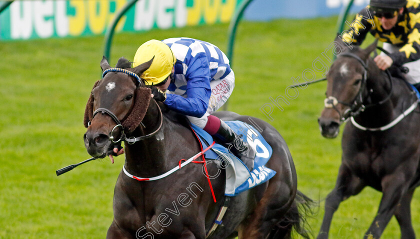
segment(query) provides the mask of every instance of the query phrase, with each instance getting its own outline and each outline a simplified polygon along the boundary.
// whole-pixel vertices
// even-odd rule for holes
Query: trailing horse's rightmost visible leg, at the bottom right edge
[[[401,198],[401,201],[395,209],[395,217],[398,221],[399,227],[401,229],[401,239],[413,239],[415,238],[414,229],[411,224],[411,209],[410,203],[414,189],[405,193]]]

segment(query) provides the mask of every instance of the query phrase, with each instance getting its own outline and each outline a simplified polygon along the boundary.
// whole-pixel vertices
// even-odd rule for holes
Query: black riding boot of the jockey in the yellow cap
[[[234,155],[246,164],[249,170],[253,168],[253,159],[255,157],[255,150],[237,135],[223,120],[220,119],[220,128],[216,134],[213,135],[218,141],[229,149]]]

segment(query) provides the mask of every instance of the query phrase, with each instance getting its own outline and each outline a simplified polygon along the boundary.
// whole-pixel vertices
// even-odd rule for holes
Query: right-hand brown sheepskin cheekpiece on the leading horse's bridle
[[[122,122],[122,126],[130,133],[140,124],[146,114],[148,105],[150,103],[151,89],[145,87],[138,87],[135,90],[134,105],[130,114]]]

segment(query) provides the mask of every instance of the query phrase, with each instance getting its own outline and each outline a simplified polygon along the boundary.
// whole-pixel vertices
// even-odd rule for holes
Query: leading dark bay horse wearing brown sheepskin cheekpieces
[[[87,152],[104,157],[119,139],[125,140],[124,169],[137,178],[152,178],[177,168],[202,149],[185,117],[150,97],[138,75],[149,62],[135,68],[120,58],[111,68],[101,61],[98,80],[86,105],[84,142]],[[121,72],[119,72],[121,71]],[[223,120],[248,120],[232,112],[218,112]],[[267,167],[277,173],[269,181],[230,198],[222,226],[207,238],[290,238],[292,227],[306,238],[301,205],[309,198],[297,190],[292,157],[284,139],[268,123],[252,118],[273,153]],[[134,141],[134,138],[135,141]],[[198,158],[196,159],[198,160]],[[208,175],[218,164],[207,161]],[[136,180],[121,170],[114,197],[114,218],[106,238],[206,238],[224,201],[224,171],[210,180],[202,164],[190,163],[158,180]]]

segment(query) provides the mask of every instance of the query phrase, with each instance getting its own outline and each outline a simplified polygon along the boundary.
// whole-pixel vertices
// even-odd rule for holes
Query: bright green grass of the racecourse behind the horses
[[[319,230],[323,203],[340,164],[340,136],[323,138],[317,117],[325,82],[299,89],[289,105],[274,108],[270,121],[259,110],[269,97],[284,96],[335,35],[336,17],[242,22],[232,67],[235,90],[229,110],[259,117],[282,134],[293,155],[298,188],[319,200],[309,219]],[[150,38],[189,36],[226,50],[227,24],[119,33],[113,39],[111,65],[120,56],[132,60]],[[123,160],[89,162],[57,177],[55,170],[88,158],[82,117],[92,84],[100,77],[103,36],[1,42],[0,44],[0,238],[103,238],[112,220],[113,186]],[[328,64],[329,65],[329,64]],[[317,77],[321,77],[320,74]],[[376,213],[381,194],[371,188],[340,204],[330,238],[360,238]],[[420,236],[420,194],[412,201]],[[399,238],[393,218],[382,238]]]

